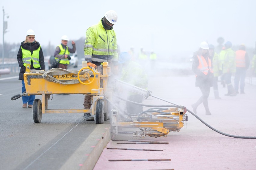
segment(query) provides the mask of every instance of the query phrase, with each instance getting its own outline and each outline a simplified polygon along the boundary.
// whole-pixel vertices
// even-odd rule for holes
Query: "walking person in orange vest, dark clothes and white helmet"
[[[192,104],[193,112],[197,114],[197,107],[203,103],[206,115],[211,115],[208,107],[208,97],[213,86],[213,70],[207,42],[201,42],[199,50],[194,54],[192,70],[196,74],[196,87],[199,87],[202,92],[198,101]]]

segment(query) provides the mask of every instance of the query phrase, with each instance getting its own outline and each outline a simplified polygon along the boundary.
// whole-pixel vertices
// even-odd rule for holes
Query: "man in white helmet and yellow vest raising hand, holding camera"
[[[59,62],[59,68],[67,69],[69,65],[69,60],[71,60],[70,53],[75,53],[75,42],[72,40],[72,48],[67,46],[69,41],[68,36],[63,35],[61,37],[61,44],[59,44],[54,52],[54,57],[57,62]]]

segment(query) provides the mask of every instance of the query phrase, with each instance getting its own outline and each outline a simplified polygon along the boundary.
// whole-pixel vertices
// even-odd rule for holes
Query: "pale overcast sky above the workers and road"
[[[35,31],[41,45],[49,41],[58,45],[64,34],[77,40],[108,10],[118,14],[114,30],[121,51],[134,46],[136,51],[143,47],[162,55],[190,54],[202,41],[217,45],[220,36],[247,47],[255,47],[256,41],[255,0],[2,0],[0,4],[9,16],[5,17],[9,43],[25,40],[28,29]],[[0,28],[2,44],[2,19]]]

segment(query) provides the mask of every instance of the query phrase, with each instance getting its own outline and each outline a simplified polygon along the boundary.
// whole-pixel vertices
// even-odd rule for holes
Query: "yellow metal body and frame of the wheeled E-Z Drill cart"
[[[89,83],[87,84],[58,84],[54,82],[47,81],[43,78],[43,74],[37,72],[30,72],[30,65],[26,65],[26,72],[24,73],[24,83],[26,87],[26,93],[28,95],[42,95],[42,114],[44,113],[92,113],[96,114],[96,102],[99,99],[103,99],[107,95],[108,91],[108,73],[110,72],[110,67],[108,63],[104,62],[103,74],[99,72],[93,73],[89,78]],[[58,80],[75,80],[78,79],[78,75],[83,69],[89,69],[89,67],[84,67],[80,69],[78,74],[66,74],[66,75],[56,75],[53,76]],[[91,69],[90,69],[91,70]],[[83,78],[79,75],[79,78]],[[102,85],[101,81],[102,79]],[[79,80],[79,79],[78,79]],[[101,87],[103,86],[103,88]],[[49,109],[48,99],[50,95],[53,94],[87,94],[93,95],[92,109]],[[109,94],[108,94],[109,95]],[[81,101],[82,102],[82,101]],[[104,106],[107,107],[107,106]]]

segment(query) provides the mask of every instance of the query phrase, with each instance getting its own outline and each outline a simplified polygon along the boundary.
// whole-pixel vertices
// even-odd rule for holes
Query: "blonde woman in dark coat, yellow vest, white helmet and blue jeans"
[[[19,80],[22,82],[22,93],[26,91],[23,74],[26,72],[26,64],[30,64],[31,69],[44,70],[44,54],[39,42],[35,40],[35,32],[28,30],[25,41],[21,42],[17,54],[17,60],[20,66]],[[32,108],[35,95],[22,96],[23,106]]]

